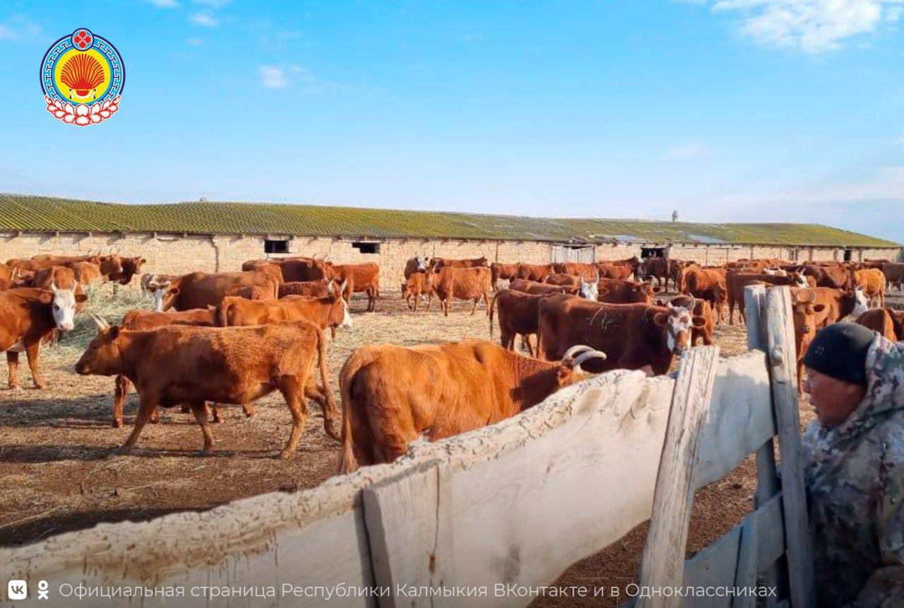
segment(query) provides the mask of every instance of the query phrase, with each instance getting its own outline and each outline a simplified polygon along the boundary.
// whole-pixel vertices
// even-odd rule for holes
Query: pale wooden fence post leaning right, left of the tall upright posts
[[[719,347],[692,348],[675,379],[672,409],[653,498],[653,517],[641,557],[642,588],[678,587],[684,578],[684,549],[691,518],[693,474],[700,431],[710,410]],[[681,598],[641,597],[637,606],[679,606]]]

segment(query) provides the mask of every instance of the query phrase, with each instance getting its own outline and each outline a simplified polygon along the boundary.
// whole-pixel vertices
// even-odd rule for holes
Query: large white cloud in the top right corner
[[[736,13],[740,31],[770,47],[825,52],[857,34],[899,20],[904,0],[715,0],[713,11]]]

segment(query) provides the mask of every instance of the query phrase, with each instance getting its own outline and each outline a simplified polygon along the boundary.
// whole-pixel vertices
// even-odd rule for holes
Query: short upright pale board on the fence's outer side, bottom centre
[[[453,584],[452,474],[437,461],[362,490],[376,584],[391,589],[381,608],[443,606],[455,598],[397,597],[397,585]]]

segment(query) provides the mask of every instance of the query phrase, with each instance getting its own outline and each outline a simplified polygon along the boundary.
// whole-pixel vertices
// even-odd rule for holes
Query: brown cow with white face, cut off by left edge
[[[23,350],[32,370],[34,387],[44,387],[38,371],[41,343],[54,329],[71,331],[76,307],[85,299],[84,294],[74,289],[61,290],[54,283],[50,284],[50,290],[20,287],[0,292],[0,351],[6,351],[10,388],[19,384],[16,370]]]

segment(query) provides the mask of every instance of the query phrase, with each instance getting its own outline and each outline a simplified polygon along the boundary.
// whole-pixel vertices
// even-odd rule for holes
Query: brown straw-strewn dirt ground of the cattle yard
[[[110,302],[116,309],[112,294],[104,292],[100,298],[107,307],[105,315]],[[92,301],[100,300],[95,296]],[[353,314],[354,327],[340,331],[330,344],[329,368],[337,400],[339,368],[355,347],[489,337],[482,305],[471,317],[470,304],[457,303],[451,315],[443,318],[436,307],[430,312],[411,312],[398,292],[385,293],[375,313],[363,313],[365,304],[366,300],[353,300],[353,313],[359,313]],[[119,307],[118,314],[123,311]],[[82,343],[90,331],[86,318],[82,315],[80,320]],[[75,333],[79,333],[78,327]],[[137,398],[133,394],[127,403],[125,426],[112,428],[113,379],[74,373],[73,364],[81,351],[80,345],[72,344],[77,339],[64,338],[43,351],[46,389],[30,388],[31,375],[25,365],[19,369],[19,382],[25,388],[7,390],[0,379],[0,479],[5,480],[0,486],[0,546],[32,543],[99,522],[148,519],[173,511],[213,508],[265,492],[312,488],[334,474],[339,445],[325,434],[316,408],[310,410],[296,456],[287,461],[274,458],[287,440],[291,420],[278,394],[256,402],[253,418],[246,418],[238,406],[226,406],[223,422],[212,425],[216,445],[210,456],[200,452],[202,435],[192,415],[177,409],[165,410],[159,424],[147,425],[131,455],[110,455],[131,430]],[[716,342],[723,356],[747,350],[743,326],[717,326]],[[806,400],[801,404],[801,418],[802,423],[812,418]],[[697,492],[689,555],[749,512],[755,486],[751,458],[727,478]],[[558,584],[624,588],[634,582],[645,528],[645,524],[637,527],[598,555],[572,565]],[[536,605],[576,603],[576,598],[541,598]],[[593,603],[600,605],[598,598]]]

